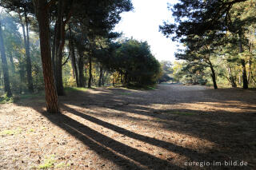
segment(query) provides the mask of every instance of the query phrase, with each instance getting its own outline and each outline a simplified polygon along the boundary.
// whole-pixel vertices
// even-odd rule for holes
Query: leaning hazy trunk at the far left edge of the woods
[[[7,94],[7,97],[11,97],[12,93],[10,90],[8,65],[7,65],[7,61],[6,61],[6,49],[5,49],[3,38],[2,38],[1,21],[0,21],[0,53],[1,53],[1,60],[2,60],[2,73],[3,73],[3,81],[4,81],[4,85],[5,85],[5,93]]]

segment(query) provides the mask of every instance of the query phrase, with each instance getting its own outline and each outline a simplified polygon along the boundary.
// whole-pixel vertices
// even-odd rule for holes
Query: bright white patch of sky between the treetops
[[[146,41],[158,61],[174,61],[177,43],[159,32],[164,21],[174,22],[167,2],[174,0],[132,0],[134,11],[121,14],[122,20],[114,31],[122,32],[126,38]]]

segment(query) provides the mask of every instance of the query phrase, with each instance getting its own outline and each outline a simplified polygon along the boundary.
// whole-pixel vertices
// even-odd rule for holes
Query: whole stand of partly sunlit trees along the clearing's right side
[[[175,23],[160,30],[183,48],[175,57],[174,80],[187,84],[256,86],[254,0],[179,1],[169,6]]]

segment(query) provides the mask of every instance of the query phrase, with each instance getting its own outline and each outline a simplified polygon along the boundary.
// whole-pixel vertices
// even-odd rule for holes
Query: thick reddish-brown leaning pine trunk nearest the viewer
[[[43,78],[46,91],[46,109],[49,113],[59,113],[58,95],[54,84],[54,72],[50,57],[50,25],[47,0],[34,0],[39,25],[40,49],[42,57]]]

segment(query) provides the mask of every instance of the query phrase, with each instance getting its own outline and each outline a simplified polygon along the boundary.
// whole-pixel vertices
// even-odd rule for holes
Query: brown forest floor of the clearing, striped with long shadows
[[[255,91],[98,88],[59,103],[0,105],[0,169],[256,169]]]

